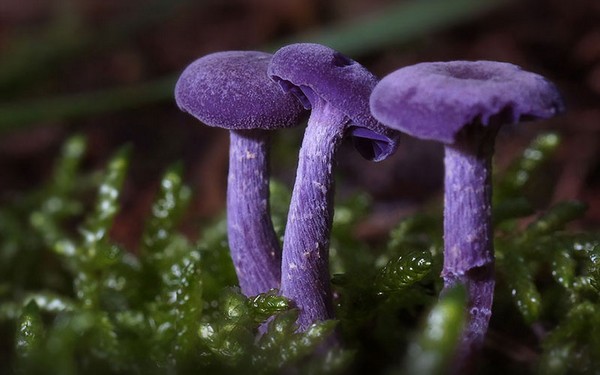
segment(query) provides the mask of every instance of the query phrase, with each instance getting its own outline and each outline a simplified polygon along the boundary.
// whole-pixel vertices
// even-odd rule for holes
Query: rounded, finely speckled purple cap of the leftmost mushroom
[[[179,108],[206,125],[232,130],[295,126],[304,110],[267,76],[272,55],[216,52],[191,63],[175,85]]]

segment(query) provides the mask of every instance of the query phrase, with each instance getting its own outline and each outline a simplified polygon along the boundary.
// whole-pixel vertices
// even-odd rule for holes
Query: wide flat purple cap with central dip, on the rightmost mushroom
[[[384,77],[371,94],[382,123],[416,138],[451,144],[469,124],[544,119],[564,110],[544,77],[495,61],[421,63]]]

